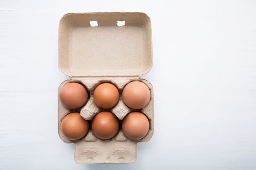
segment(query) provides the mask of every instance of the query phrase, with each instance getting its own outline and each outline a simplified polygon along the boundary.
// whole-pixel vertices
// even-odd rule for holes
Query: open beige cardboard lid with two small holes
[[[59,22],[59,68],[72,77],[140,76],[152,68],[144,13],[70,13]]]

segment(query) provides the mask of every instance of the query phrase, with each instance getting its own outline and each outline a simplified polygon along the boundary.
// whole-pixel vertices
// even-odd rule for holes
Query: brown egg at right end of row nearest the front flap
[[[149,121],[140,112],[132,112],[126,115],[122,122],[122,130],[125,136],[133,140],[139,140],[147,135]]]

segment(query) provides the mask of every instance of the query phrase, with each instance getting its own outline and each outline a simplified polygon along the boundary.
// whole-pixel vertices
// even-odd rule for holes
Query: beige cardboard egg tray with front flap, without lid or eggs
[[[141,81],[146,84],[150,89],[150,101],[147,106],[142,109],[131,109],[125,105],[122,101],[122,90],[125,85],[132,81]],[[147,142],[153,135],[154,131],[154,112],[153,112],[153,87],[144,79],[140,78],[115,78],[115,79],[88,79],[88,78],[77,78],[69,79],[64,81],[60,86],[59,90],[63,85],[70,82],[80,83],[84,85],[88,90],[88,101],[79,109],[67,109],[60,100],[58,103],[58,118],[59,118],[59,137],[66,143],[75,143],[75,161],[77,163],[133,163],[136,161],[137,154],[137,142]],[[93,98],[93,93],[96,87],[102,83],[111,83],[118,88],[119,101],[111,109],[102,109],[96,105]],[[91,124],[86,136],[79,140],[70,140],[66,138],[60,128],[62,119],[69,113],[79,112],[85,120],[91,120],[96,114],[102,111],[109,111],[116,115],[119,119],[119,130],[116,136],[108,140],[99,139],[92,133]],[[132,140],[126,137],[121,129],[122,119],[130,112],[138,111],[147,116],[149,119],[149,132],[140,140]]]

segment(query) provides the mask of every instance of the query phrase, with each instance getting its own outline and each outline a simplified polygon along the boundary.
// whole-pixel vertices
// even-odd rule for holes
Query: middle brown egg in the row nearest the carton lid
[[[119,92],[115,85],[103,83],[96,87],[93,97],[99,107],[109,109],[118,103]]]

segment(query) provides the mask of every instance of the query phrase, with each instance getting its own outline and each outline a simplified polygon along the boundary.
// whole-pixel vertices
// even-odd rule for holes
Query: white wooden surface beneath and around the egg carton
[[[152,20],[155,134],[135,164],[79,165],[57,133],[58,24]],[[256,170],[256,1],[0,0],[0,170]]]

